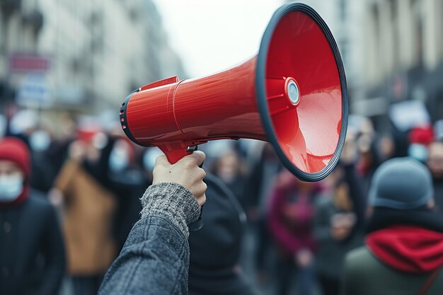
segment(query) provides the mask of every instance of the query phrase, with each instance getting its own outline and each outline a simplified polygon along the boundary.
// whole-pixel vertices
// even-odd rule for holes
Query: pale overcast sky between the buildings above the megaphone
[[[228,69],[258,52],[282,0],[154,0],[190,77]]]

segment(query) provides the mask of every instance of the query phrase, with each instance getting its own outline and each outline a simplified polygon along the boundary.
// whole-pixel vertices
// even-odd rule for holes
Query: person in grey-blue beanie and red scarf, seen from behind
[[[442,294],[443,218],[426,166],[413,158],[383,163],[369,205],[365,246],[346,257],[343,294]]]

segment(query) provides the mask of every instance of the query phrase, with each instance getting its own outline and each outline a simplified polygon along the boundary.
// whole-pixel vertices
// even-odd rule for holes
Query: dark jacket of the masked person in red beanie
[[[64,270],[62,233],[45,197],[0,208],[1,295],[58,294]]]

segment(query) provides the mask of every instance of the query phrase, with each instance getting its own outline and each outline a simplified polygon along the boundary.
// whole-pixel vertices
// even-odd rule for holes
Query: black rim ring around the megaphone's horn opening
[[[291,163],[291,161],[289,161],[287,156],[284,154],[284,151],[280,147],[277,136],[275,134],[274,127],[272,127],[271,118],[267,108],[266,86],[265,86],[267,50],[269,49],[272,35],[274,33],[275,28],[277,27],[277,24],[287,13],[292,11],[301,11],[306,13],[308,16],[310,16],[313,19],[313,21],[315,21],[318,24],[321,30],[323,30],[323,33],[325,34],[326,39],[328,40],[329,46],[333,51],[335,57],[335,63],[337,64],[338,68],[338,74],[340,76],[340,84],[342,91],[342,125],[341,125],[340,137],[338,139],[337,149],[334,152],[333,158],[329,161],[328,165],[325,168],[316,173],[306,173],[297,168],[296,166],[294,166],[294,164]],[[286,166],[286,168],[289,169],[292,173],[294,173],[294,175],[296,175],[297,178],[299,178],[300,180],[318,181],[322,180],[323,178],[326,178],[326,176],[328,176],[328,174],[333,170],[333,168],[335,168],[335,165],[337,165],[338,159],[340,158],[343,146],[345,144],[345,137],[347,130],[347,111],[348,111],[347,84],[346,84],[345,69],[343,66],[342,59],[340,57],[340,52],[338,50],[337,43],[335,43],[334,37],[332,33],[330,33],[328,25],[326,25],[325,21],[323,21],[321,16],[319,16],[318,13],[316,13],[316,11],[313,10],[313,8],[307,6],[306,4],[290,3],[281,6],[272,15],[272,18],[265,30],[265,33],[263,34],[262,41],[260,43],[260,50],[258,51],[257,67],[255,70],[255,91],[257,91],[258,94],[258,109],[260,110],[260,117],[263,122],[263,127],[265,127],[267,140],[274,147],[275,152],[279,156],[280,160],[283,162],[284,166]]]

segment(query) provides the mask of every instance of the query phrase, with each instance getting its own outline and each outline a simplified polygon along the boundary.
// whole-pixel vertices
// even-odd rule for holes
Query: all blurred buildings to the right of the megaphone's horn
[[[325,19],[345,64],[351,111],[386,117],[420,100],[443,117],[443,0],[305,0]]]

